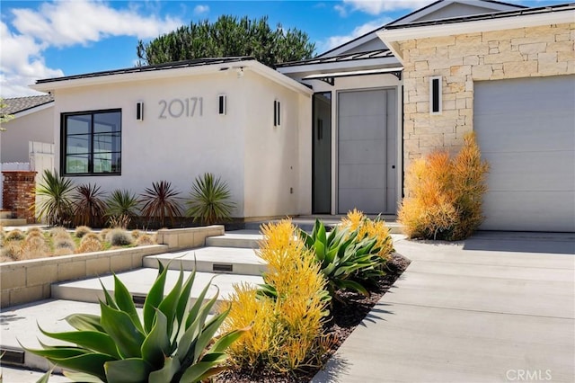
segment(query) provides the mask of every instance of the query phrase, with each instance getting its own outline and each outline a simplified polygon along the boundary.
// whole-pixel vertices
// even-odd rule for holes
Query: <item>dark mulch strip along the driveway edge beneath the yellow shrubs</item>
[[[339,292],[340,296],[345,299],[345,304],[337,300],[333,302],[332,317],[325,325],[327,333],[334,337],[334,343],[330,351],[325,354],[323,364],[340,348],[341,343],[361,323],[410,263],[411,261],[407,258],[394,253],[387,263],[389,271],[377,281],[376,286],[371,287],[369,297],[350,291]],[[217,376],[214,381],[217,383],[303,383],[314,378],[319,370],[321,368],[317,367],[297,370],[289,374],[279,374],[270,370],[228,370]]]

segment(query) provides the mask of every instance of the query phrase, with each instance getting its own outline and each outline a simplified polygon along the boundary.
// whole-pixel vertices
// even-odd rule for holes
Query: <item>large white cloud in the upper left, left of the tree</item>
[[[111,36],[147,39],[182,24],[170,16],[142,15],[137,8],[114,9],[108,3],[62,1],[44,3],[38,11],[12,10],[10,29],[2,22],[0,85],[3,97],[35,94],[27,85],[37,79],[64,76],[46,65],[43,52],[50,47],[86,45]]]

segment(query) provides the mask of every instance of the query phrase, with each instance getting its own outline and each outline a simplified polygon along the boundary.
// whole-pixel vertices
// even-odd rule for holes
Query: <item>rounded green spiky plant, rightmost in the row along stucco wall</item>
[[[189,208],[186,215],[194,221],[200,219],[205,225],[212,225],[218,220],[229,219],[235,203],[230,200],[231,193],[227,183],[214,174],[206,173],[196,177],[191,186]]]

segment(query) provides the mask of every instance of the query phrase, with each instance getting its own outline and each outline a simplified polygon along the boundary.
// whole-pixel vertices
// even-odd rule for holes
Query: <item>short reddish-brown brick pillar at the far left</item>
[[[34,223],[34,210],[31,206],[36,200],[36,172],[5,171],[2,190],[4,209],[11,210],[16,218],[26,218],[26,222]]]

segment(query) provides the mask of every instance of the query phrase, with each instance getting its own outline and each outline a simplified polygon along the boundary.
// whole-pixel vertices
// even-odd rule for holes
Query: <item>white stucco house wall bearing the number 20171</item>
[[[217,113],[219,94],[227,96],[224,116]],[[282,101],[283,120],[281,129],[274,132],[276,94]],[[308,95],[246,69],[243,76],[226,70],[57,89],[55,96],[56,153],[60,152],[61,113],[122,110],[121,175],[71,177],[75,183],[140,193],[153,182],[166,180],[182,192],[181,197],[188,197],[194,178],[211,172],[228,183],[237,204],[234,217],[299,214],[311,209],[311,181],[304,195],[298,191],[297,173],[299,110],[311,111]],[[159,118],[162,100],[169,105],[174,99],[190,97],[202,97],[201,116],[173,118],[165,111],[166,118]],[[300,97],[308,102],[300,102]],[[144,102],[143,121],[136,120],[137,102]],[[174,111],[178,114],[175,104]],[[303,113],[311,120],[309,111]],[[311,158],[311,146],[308,156]],[[58,168],[60,161],[57,155]],[[311,167],[311,159],[308,164]],[[294,188],[293,194],[289,194],[289,187]]]

